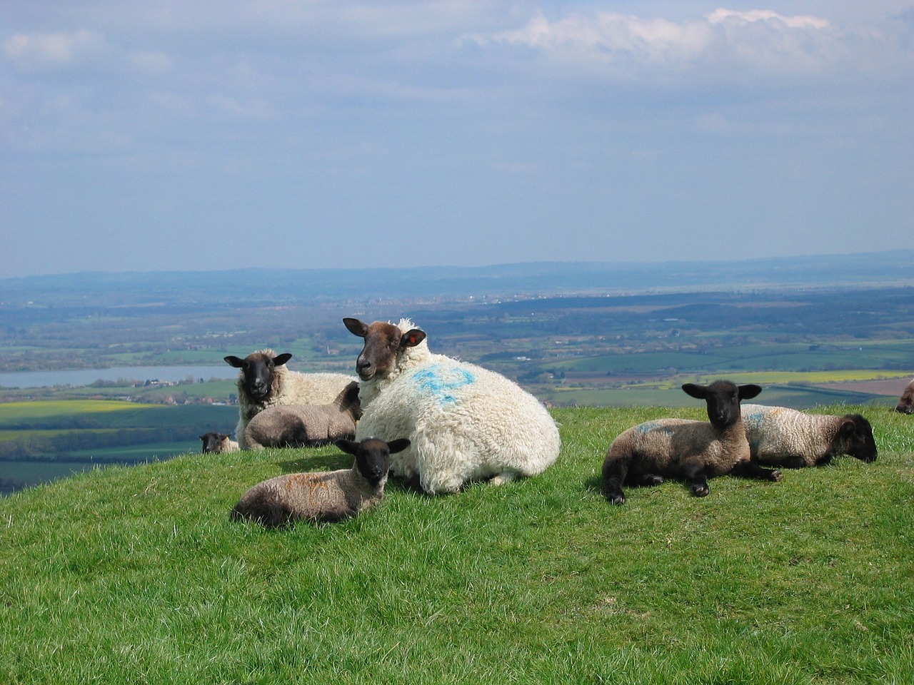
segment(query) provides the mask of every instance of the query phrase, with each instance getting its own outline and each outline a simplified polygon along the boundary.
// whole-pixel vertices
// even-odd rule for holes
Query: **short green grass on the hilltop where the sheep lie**
[[[780,483],[600,496],[622,429],[687,409],[555,411],[535,479],[388,486],[337,525],[230,522],[251,484],[335,448],[186,455],[0,500],[0,682],[907,683],[914,422],[880,456]]]

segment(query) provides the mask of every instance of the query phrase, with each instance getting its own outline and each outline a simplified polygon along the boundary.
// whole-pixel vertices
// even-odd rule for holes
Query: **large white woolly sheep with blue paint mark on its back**
[[[356,439],[409,437],[391,459],[394,476],[428,494],[470,481],[500,485],[547,469],[561,448],[545,406],[513,381],[429,350],[409,319],[370,325],[345,318],[365,339],[356,360],[362,418]]]

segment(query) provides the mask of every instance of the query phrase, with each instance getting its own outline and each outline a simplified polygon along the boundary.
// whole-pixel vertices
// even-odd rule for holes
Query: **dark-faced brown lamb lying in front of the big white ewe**
[[[296,521],[339,522],[376,506],[384,497],[390,455],[409,447],[409,440],[385,442],[376,437],[335,446],[355,456],[351,469],[287,473],[263,480],[245,492],[231,511],[237,521],[250,519],[266,528]]]

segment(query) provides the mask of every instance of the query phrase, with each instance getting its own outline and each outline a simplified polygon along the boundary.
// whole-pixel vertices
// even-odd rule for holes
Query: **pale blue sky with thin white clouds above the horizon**
[[[914,246],[914,0],[4,0],[0,278]]]

